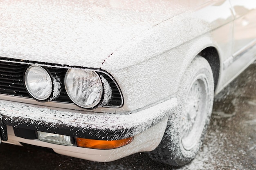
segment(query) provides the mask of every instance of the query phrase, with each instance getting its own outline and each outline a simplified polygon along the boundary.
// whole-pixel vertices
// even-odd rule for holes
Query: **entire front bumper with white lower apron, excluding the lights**
[[[7,143],[19,144],[22,142],[52,148],[56,153],[62,155],[92,161],[112,161],[135,152],[150,151],[156,148],[164,134],[168,116],[174,112],[176,105],[177,99],[173,98],[135,113],[116,115],[90,112],[73,113],[67,110],[40,108],[0,100],[0,114],[3,123],[7,125]],[[76,147],[76,144],[61,146],[38,139],[16,137],[11,126],[97,140],[119,140],[134,137],[134,141],[127,146],[112,150],[79,148]]]

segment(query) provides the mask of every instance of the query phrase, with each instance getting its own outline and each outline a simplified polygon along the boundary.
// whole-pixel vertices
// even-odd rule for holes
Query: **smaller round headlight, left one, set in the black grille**
[[[40,66],[30,66],[25,72],[25,86],[29,94],[38,100],[46,100],[52,94],[52,79]]]

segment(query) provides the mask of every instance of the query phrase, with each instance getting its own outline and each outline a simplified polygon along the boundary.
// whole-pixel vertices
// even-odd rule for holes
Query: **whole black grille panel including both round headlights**
[[[16,101],[15,97],[18,96],[20,102],[24,98],[25,103],[38,104],[34,100],[28,100],[33,98],[38,102],[44,102],[39,104],[42,106],[75,110],[120,108],[124,104],[117,82],[101,69],[13,59],[1,60],[1,63],[0,70],[4,70],[7,80],[1,84],[0,95],[13,96],[13,101]],[[77,73],[83,75],[79,78]],[[70,75],[73,77],[69,77]],[[82,79],[84,75],[87,82]],[[89,95],[89,92],[92,94]],[[98,111],[104,112],[101,109]]]

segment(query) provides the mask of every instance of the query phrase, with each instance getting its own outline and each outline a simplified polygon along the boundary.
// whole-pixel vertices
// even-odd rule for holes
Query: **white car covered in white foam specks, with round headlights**
[[[255,18],[252,0],[0,0],[1,139],[188,163],[256,60]]]

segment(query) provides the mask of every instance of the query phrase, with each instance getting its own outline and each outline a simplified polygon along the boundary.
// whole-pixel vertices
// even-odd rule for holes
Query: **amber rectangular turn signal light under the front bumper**
[[[130,144],[133,140],[133,137],[121,140],[113,141],[104,141],[104,140],[95,140],[95,139],[84,139],[76,138],[76,144],[79,147],[91,148],[91,149],[115,149]]]

